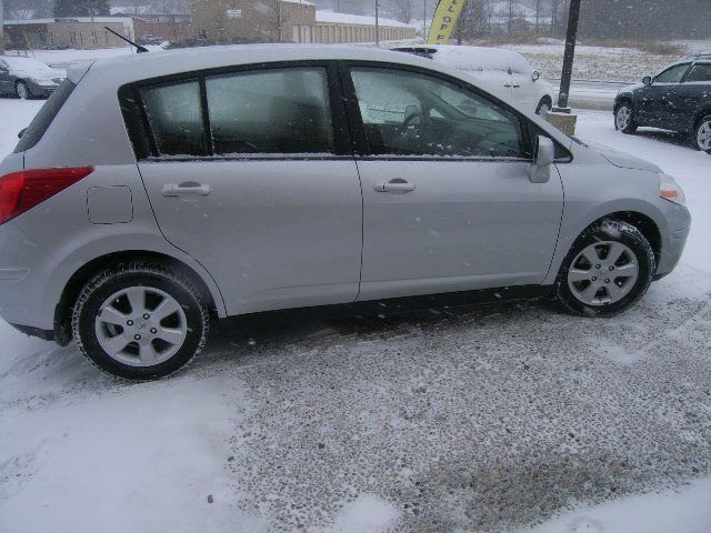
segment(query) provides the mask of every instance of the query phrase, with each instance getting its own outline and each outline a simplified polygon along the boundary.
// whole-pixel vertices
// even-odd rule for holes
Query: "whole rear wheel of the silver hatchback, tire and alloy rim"
[[[193,283],[161,264],[108,269],[82,290],[72,316],[74,340],[99,370],[157,380],[188,364],[207,342],[210,319]]]

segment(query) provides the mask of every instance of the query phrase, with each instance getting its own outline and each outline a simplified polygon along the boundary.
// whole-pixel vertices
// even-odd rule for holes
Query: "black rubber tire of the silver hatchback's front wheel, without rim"
[[[589,304],[579,300],[568,283],[573,260],[588,247],[604,242],[621,242],[634,254],[638,263],[638,278],[629,293],[614,303]],[[604,220],[590,225],[575,240],[563,261],[555,281],[555,299],[571,313],[581,316],[614,316],[633,306],[649,289],[657,270],[654,250],[649,241],[633,225],[615,220]],[[614,282],[614,280],[612,280]]]

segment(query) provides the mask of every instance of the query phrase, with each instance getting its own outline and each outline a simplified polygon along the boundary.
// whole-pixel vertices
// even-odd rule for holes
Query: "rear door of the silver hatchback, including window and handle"
[[[361,190],[336,67],[284,63],[141,87],[139,169],[161,231],[228,313],[353,301]]]

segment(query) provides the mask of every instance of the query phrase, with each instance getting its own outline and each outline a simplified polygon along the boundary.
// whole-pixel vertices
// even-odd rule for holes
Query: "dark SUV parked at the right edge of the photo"
[[[691,137],[699,150],[711,150],[711,53],[684,59],[614,99],[614,127],[634,133],[649,125]]]

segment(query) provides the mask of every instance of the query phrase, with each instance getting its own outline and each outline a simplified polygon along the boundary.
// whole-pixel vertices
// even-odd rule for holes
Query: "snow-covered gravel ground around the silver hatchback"
[[[40,103],[0,99],[0,155]],[[0,531],[711,531],[711,157],[607,112],[578,133],[661,165],[694,217],[624,316],[273,313],[138,385],[2,323]]]

